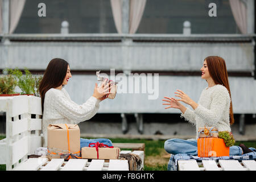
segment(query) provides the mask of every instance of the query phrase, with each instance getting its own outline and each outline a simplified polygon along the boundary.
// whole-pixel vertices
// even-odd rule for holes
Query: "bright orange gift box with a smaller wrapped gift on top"
[[[224,139],[218,138],[216,127],[200,127],[197,139],[197,154],[199,157],[229,156],[229,147]]]

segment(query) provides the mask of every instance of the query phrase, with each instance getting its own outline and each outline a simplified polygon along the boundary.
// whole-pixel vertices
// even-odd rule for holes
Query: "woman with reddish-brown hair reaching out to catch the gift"
[[[205,79],[208,87],[201,92],[198,104],[188,97],[182,90],[175,92],[175,97],[164,97],[163,100],[170,105],[166,107],[175,108],[181,111],[181,117],[199,127],[216,127],[218,131],[231,132],[230,125],[234,123],[232,100],[228,81],[228,72],[226,70],[225,60],[218,56],[209,56],[205,58],[201,70],[201,78]],[[179,101],[190,105],[193,110],[182,105]],[[196,134],[196,139],[199,136]],[[164,149],[170,154],[191,154],[197,155],[196,139],[168,139],[164,143]],[[241,155],[251,152],[244,144],[230,147],[230,155]]]

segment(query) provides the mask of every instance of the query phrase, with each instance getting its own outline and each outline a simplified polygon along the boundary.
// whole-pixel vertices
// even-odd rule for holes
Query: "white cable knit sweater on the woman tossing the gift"
[[[47,147],[47,126],[49,124],[78,124],[86,121],[97,113],[100,102],[100,100],[92,96],[84,104],[78,105],[71,100],[64,88],[61,90],[49,89],[44,96],[42,119],[43,146]]]

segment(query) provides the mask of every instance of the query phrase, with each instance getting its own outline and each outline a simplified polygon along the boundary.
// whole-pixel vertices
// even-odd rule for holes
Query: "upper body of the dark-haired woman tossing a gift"
[[[71,78],[71,70],[67,61],[59,58],[52,59],[39,85],[42,100],[44,135],[43,146],[47,147],[47,126],[54,123],[77,124],[92,118],[100,107],[100,102],[109,94],[109,85],[94,87],[93,95],[82,105],[71,100],[63,88]],[[111,87],[110,87],[111,88]]]

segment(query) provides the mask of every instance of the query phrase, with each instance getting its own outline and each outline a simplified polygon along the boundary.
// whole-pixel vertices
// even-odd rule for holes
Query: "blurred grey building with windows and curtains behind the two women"
[[[46,16],[39,16],[44,3]],[[209,16],[210,3],[216,15]],[[93,93],[96,71],[159,73],[159,97],[117,94],[80,123],[88,137],[191,138],[196,129],[165,110],[164,96],[181,89],[198,101],[204,58],[226,61],[237,139],[256,138],[254,0],[0,0],[0,71],[43,74],[49,61],[68,61],[65,86],[77,104]],[[5,132],[1,117],[0,133]],[[123,135],[125,134],[125,135]]]

